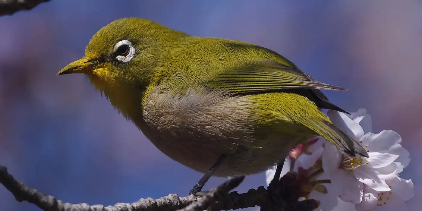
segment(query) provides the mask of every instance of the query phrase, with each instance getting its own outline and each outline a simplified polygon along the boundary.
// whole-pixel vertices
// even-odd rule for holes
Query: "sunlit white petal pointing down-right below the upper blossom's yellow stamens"
[[[360,168],[355,168],[353,173],[360,182],[376,191],[390,191],[390,187],[379,178],[378,172],[371,167],[371,164],[361,165]]]

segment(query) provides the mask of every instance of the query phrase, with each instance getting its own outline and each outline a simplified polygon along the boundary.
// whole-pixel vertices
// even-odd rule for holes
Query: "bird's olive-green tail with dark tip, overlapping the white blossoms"
[[[330,141],[336,146],[343,154],[349,157],[356,157],[357,154],[363,157],[369,157],[368,152],[360,146],[360,144],[354,140],[343,130],[335,127],[334,124],[327,121],[309,121],[311,125],[306,125],[311,130]]]

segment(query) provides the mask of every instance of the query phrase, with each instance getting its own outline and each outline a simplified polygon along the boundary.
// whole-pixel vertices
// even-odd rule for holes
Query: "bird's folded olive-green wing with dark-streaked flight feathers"
[[[279,89],[330,89],[344,90],[341,87],[315,81],[310,75],[273,60],[241,62],[236,68],[222,71],[214,76],[207,87],[227,89],[236,93],[256,93]],[[322,92],[315,93],[322,100],[327,100]],[[322,94],[322,96],[321,96]]]

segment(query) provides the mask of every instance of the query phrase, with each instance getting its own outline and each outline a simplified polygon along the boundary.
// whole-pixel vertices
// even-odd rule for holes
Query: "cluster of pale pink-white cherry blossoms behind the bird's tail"
[[[406,211],[404,201],[414,196],[414,190],[412,181],[399,175],[410,162],[400,135],[392,130],[372,133],[371,116],[362,108],[350,115],[328,111],[327,116],[369,157],[346,157],[317,137],[292,151],[281,176],[290,170],[307,174],[313,189],[305,198],[321,202],[317,211]],[[266,172],[267,184],[275,169]]]

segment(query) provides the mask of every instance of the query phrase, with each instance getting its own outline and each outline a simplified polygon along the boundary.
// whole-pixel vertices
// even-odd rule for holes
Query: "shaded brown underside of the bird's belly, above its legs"
[[[215,136],[204,141],[181,131],[157,133],[153,128],[142,131],[168,157],[201,173],[205,173],[222,154],[226,154],[224,162],[213,175],[219,177],[260,173],[283,162],[295,147],[295,144],[280,140],[280,136],[272,140],[253,140],[257,142],[257,147],[250,147],[233,145],[230,140],[214,139],[218,138]]]

